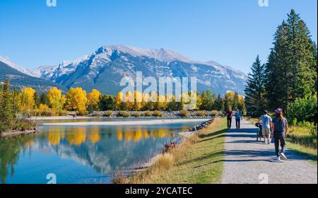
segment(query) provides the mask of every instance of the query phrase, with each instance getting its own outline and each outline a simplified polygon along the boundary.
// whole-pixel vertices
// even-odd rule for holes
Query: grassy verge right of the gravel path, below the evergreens
[[[249,122],[255,123],[257,118],[246,117]],[[317,163],[317,131],[309,126],[290,126],[286,136],[287,147],[304,156],[307,160]]]

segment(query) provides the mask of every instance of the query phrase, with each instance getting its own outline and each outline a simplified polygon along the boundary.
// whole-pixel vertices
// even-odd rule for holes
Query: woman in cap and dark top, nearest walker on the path
[[[281,158],[287,160],[285,156],[285,135],[288,133],[288,122],[285,117],[283,117],[283,110],[281,108],[276,109],[275,113],[276,117],[271,124],[271,137],[275,139],[276,160],[281,161]],[[279,144],[281,144],[281,153],[279,153]]]

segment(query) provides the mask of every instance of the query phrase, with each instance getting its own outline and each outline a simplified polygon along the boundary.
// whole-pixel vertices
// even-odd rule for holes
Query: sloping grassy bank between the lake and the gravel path
[[[128,182],[218,183],[223,170],[225,128],[225,119],[216,118],[180,146],[157,156],[153,165]]]

